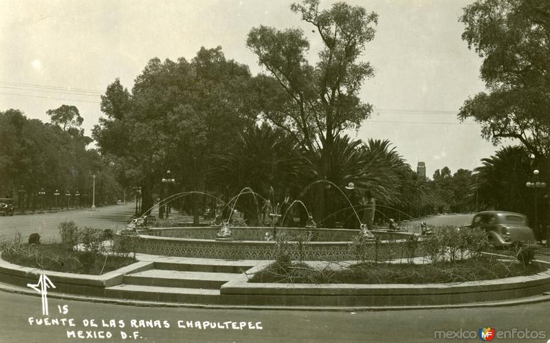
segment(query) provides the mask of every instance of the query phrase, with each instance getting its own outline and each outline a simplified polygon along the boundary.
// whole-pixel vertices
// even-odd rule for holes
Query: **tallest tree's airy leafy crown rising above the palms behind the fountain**
[[[300,29],[276,30],[255,27],[247,46],[274,78],[260,76],[256,82],[262,96],[276,97],[260,105],[262,115],[295,135],[305,148],[329,148],[343,130],[357,128],[372,111],[358,98],[366,78],[374,74],[369,63],[359,62],[366,43],[374,38],[377,14],[359,6],[335,3],[319,9],[319,0],[294,3],[291,10],[313,25],[323,47],[312,66],[306,60],[309,42]],[[274,90],[274,84],[279,91]],[[275,105],[275,107],[272,107]]]

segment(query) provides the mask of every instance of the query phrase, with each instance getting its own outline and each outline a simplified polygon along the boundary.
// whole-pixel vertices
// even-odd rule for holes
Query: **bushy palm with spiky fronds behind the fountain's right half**
[[[327,175],[321,175],[323,159],[329,159],[331,166]],[[397,207],[406,210],[418,210],[426,205],[428,190],[426,180],[418,177],[388,140],[351,140],[347,135],[336,137],[331,150],[322,156],[320,151],[307,154],[309,181],[326,178],[340,186],[349,182],[355,184],[356,192],[365,195],[366,190],[385,207]],[[313,173],[311,173],[311,171]],[[339,191],[330,188],[309,195],[309,200],[322,203],[317,208],[318,216],[338,212],[348,208]],[[358,205],[357,203],[354,204]],[[361,210],[361,206],[358,206]],[[351,209],[344,213],[353,215]],[[330,221],[329,221],[330,223]]]

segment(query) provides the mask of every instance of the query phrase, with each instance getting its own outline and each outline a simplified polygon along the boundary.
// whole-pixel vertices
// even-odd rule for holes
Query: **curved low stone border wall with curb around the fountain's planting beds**
[[[3,288],[6,291],[14,291],[21,294],[34,294],[30,289],[25,289],[25,285],[28,282],[32,282],[34,278],[28,278],[29,274],[36,276],[36,269],[30,267],[22,267],[19,265],[13,265],[5,261],[1,261],[3,265],[0,265],[0,271],[3,269],[8,270],[6,274],[8,280],[10,278],[23,278],[19,280],[15,285],[10,285],[10,281],[3,280]],[[540,263],[549,264],[547,262]],[[397,311],[397,310],[411,310],[411,309],[451,309],[451,308],[468,308],[468,307],[481,307],[481,306],[510,306],[522,304],[524,302],[540,302],[550,300],[550,296],[544,294],[548,291],[548,283],[550,273],[541,272],[535,276],[518,276],[512,278],[514,280],[507,280],[507,283],[500,285],[502,279],[499,280],[484,280],[478,282],[470,282],[472,285],[465,285],[463,291],[450,291],[450,293],[441,292],[441,285],[433,284],[428,287],[428,292],[423,291],[426,285],[410,285],[404,287],[404,285],[393,285],[392,287],[382,287],[378,289],[373,285],[345,285],[344,289],[338,287],[328,287],[325,290],[318,290],[318,287],[314,285],[296,285],[289,287],[285,284],[254,284],[249,285],[243,283],[243,280],[232,280],[225,283],[220,287],[221,296],[236,296],[246,297],[251,296],[250,302],[245,299],[245,302],[236,304],[217,304],[209,305],[208,301],[201,303],[189,303],[185,302],[166,302],[166,300],[160,300],[159,302],[151,301],[151,297],[144,297],[133,299],[131,294],[120,294],[120,298],[105,297],[105,287],[118,285],[122,283],[122,279],[125,274],[133,271],[136,268],[151,269],[151,261],[142,261],[133,263],[129,266],[123,267],[117,271],[112,271],[102,276],[82,276],[80,274],[66,274],[59,272],[50,273],[50,277],[57,284],[58,292],[52,292],[49,295],[53,298],[63,298],[72,300],[84,300],[91,302],[107,302],[111,304],[120,305],[133,305],[144,307],[189,307],[189,308],[203,308],[203,309],[276,309],[276,310],[305,310],[305,311]],[[257,266],[256,266],[257,267]],[[251,270],[254,270],[252,267]],[[248,270],[250,272],[250,270]],[[21,275],[24,274],[24,275]],[[73,277],[73,278],[71,278]],[[76,279],[74,279],[76,278]],[[25,280],[26,279],[26,280]],[[77,282],[78,281],[78,282]],[[1,284],[1,283],[0,283]],[[494,285],[492,285],[494,284]],[[428,285],[428,286],[430,286]],[[479,290],[478,287],[489,287],[487,290]],[[516,286],[508,289],[509,286]],[[347,287],[347,288],[346,288]],[[380,287],[380,285],[379,285]],[[472,287],[474,287],[472,289]],[[496,288],[495,288],[496,287]],[[504,288],[503,288],[504,287]],[[522,294],[518,294],[517,289],[529,289]],[[542,287],[542,288],[541,288]],[[459,289],[461,290],[461,289]],[[25,292],[26,291],[26,292]],[[336,291],[336,294],[335,294]],[[448,289],[445,289],[448,291]],[[487,293],[489,291],[489,293]],[[511,294],[494,297],[490,292],[503,291]],[[146,290],[144,290],[146,292]],[[304,293],[305,292],[305,293]],[[381,293],[382,292],[382,293]],[[408,294],[412,292],[411,294]],[[544,295],[543,295],[544,294]],[[431,304],[423,305],[422,302],[408,301],[407,303],[397,301],[381,301],[380,299],[386,299],[389,296],[422,298],[426,296],[434,296],[436,298],[430,298]],[[460,301],[445,301],[439,302],[437,299],[445,297],[458,297],[470,295],[470,302]],[[473,298],[472,298],[473,295]],[[361,299],[369,298],[373,296],[373,301],[367,302]],[[542,296],[542,298],[540,298]],[[365,298],[366,297],[366,298]],[[273,298],[280,298],[280,301],[270,301]],[[141,299],[141,300],[140,300]],[[266,300],[267,299],[267,300]],[[439,302],[439,304],[437,303]],[[426,302],[423,302],[426,304]],[[285,304],[287,306],[285,306]]]

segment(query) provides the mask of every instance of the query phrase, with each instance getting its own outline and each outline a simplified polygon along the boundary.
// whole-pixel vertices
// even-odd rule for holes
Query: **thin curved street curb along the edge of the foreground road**
[[[0,291],[6,293],[21,294],[27,296],[41,296],[40,294],[25,289],[0,283]],[[545,292],[540,296],[532,296],[529,298],[519,298],[514,300],[504,300],[496,302],[473,302],[470,304],[456,305],[432,305],[432,306],[393,306],[393,307],[285,307],[285,306],[260,306],[260,305],[203,305],[203,304],[183,304],[175,302],[150,302],[140,300],[120,300],[115,298],[95,298],[88,296],[76,296],[74,294],[48,294],[50,298],[62,300],[85,301],[98,304],[124,305],[135,307],[171,307],[171,308],[187,308],[187,309],[245,309],[256,311],[327,311],[327,312],[381,312],[381,311],[412,311],[412,310],[428,310],[428,309],[470,309],[476,307],[511,307],[518,305],[537,304],[540,302],[550,302],[550,292]]]

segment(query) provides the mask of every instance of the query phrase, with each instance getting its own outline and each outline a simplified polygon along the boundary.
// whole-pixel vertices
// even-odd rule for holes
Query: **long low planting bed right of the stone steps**
[[[469,260],[412,265],[397,263],[359,263],[347,268],[314,269],[305,263],[276,261],[250,278],[251,283],[353,283],[415,284],[456,283],[491,280],[537,274],[546,270],[537,263],[523,265],[517,261],[477,257]]]

